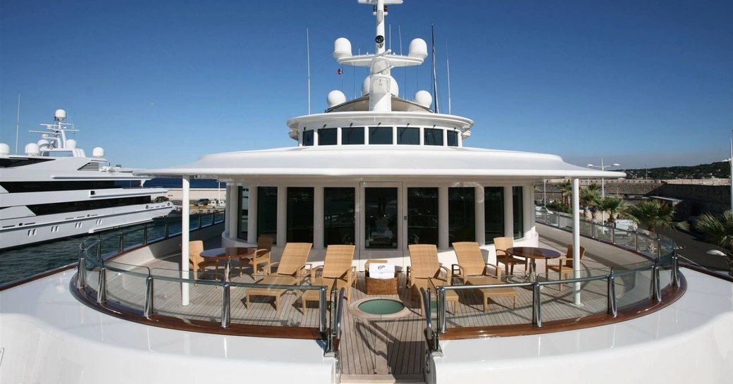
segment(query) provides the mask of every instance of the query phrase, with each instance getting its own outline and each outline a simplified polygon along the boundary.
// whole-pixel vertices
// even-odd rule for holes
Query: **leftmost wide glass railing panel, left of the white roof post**
[[[145,288],[150,270],[147,267],[105,262],[107,301],[139,311],[145,308]]]

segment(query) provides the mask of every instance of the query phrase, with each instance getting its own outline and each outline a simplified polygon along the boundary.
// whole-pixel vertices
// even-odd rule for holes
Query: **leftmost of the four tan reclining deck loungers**
[[[287,243],[282,251],[279,262],[270,262],[265,266],[267,275],[257,284],[262,285],[296,285],[301,284],[305,277],[306,262],[311,251],[312,243]],[[272,267],[277,265],[275,273]],[[280,296],[287,289],[282,288],[248,288],[245,293],[245,306],[249,308],[250,296],[271,296],[275,298],[275,310],[280,309]]]

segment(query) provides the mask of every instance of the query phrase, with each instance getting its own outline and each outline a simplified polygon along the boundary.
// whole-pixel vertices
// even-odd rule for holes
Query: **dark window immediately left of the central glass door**
[[[354,188],[323,188],[323,245],[354,244]]]

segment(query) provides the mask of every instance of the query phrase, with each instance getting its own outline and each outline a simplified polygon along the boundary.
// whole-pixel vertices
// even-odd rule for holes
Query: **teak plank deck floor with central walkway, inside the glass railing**
[[[178,267],[177,256],[168,260],[157,260],[147,265],[151,268],[174,270]],[[162,270],[157,270],[163,273]],[[238,276],[232,268],[232,281],[251,283],[252,276]],[[249,270],[247,270],[249,271]],[[153,270],[156,274],[156,270]],[[542,276],[542,274],[540,274]],[[552,277],[552,276],[550,276]],[[515,279],[519,279],[517,276]],[[92,280],[93,281],[93,280]],[[628,296],[648,295],[648,286],[633,288],[633,275],[616,280],[616,295],[619,307],[633,302]],[[145,300],[145,279],[127,274],[109,273],[107,276],[107,300],[125,306],[142,309]],[[270,325],[289,327],[318,326],[317,304],[309,302],[306,313],[301,309],[301,290],[293,287],[282,295],[281,307],[276,311],[273,298],[254,296],[251,308],[244,305],[246,288],[231,289],[232,324]],[[583,284],[583,306],[572,305],[572,289],[566,284],[562,290],[557,286],[542,288],[542,320],[561,320],[603,314],[607,309],[607,287],[605,280]],[[425,320],[419,315],[419,301],[411,289],[405,287],[405,275],[399,274],[397,295],[367,295],[364,273],[358,273],[352,298],[345,300],[342,339],[339,346],[342,382],[370,380],[420,380],[426,353],[424,338]],[[483,295],[479,290],[457,291],[459,302],[454,313],[448,313],[446,327],[468,328],[493,325],[527,325],[532,321],[532,291],[517,289],[517,307],[512,309],[512,298],[496,298],[490,301],[487,312],[483,311]],[[409,311],[402,317],[364,317],[350,311],[350,303],[365,298],[394,298],[405,304]],[[201,281],[191,287],[191,303],[181,306],[180,283],[155,281],[155,314],[185,317],[191,320],[221,321],[221,286],[207,285]],[[449,310],[452,309],[449,306]],[[330,314],[329,314],[330,315]],[[435,326],[435,314],[433,314]]]

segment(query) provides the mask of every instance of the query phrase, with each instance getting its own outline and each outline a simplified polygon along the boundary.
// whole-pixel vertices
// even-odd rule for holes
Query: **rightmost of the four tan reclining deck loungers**
[[[457,270],[454,276],[463,279],[464,284],[482,285],[482,284],[502,284],[501,268],[484,262],[484,255],[481,253],[479,243],[474,241],[453,243],[453,249],[456,251],[456,259],[458,264],[453,265],[452,269]],[[493,275],[490,270],[494,270]],[[496,298],[512,298],[514,300],[514,308],[517,308],[517,298],[519,296],[516,288],[482,288],[479,289],[483,296],[484,311],[487,311],[489,299],[496,302]]]

